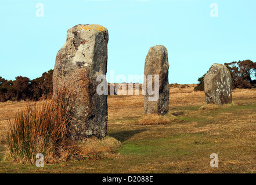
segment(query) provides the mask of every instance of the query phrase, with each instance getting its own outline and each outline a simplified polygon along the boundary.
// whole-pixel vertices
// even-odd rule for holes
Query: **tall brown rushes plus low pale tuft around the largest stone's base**
[[[74,114],[74,98],[63,91],[52,99],[27,103],[11,121],[6,136],[6,157],[16,162],[36,161],[38,153],[44,162],[96,160],[113,157],[120,142],[107,136],[84,141],[70,139],[69,126]]]

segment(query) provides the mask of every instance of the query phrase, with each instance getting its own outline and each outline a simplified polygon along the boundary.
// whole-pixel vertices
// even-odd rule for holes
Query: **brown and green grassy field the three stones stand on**
[[[116,156],[44,168],[5,160],[8,119],[26,102],[0,103],[0,173],[255,173],[256,90],[234,90],[232,106],[200,109],[204,92],[194,86],[171,85],[167,116],[178,120],[167,124],[138,124],[143,95],[109,95],[108,135],[122,143]]]

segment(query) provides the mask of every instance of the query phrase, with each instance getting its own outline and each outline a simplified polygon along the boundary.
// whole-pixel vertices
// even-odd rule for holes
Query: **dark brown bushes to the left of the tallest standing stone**
[[[6,80],[0,76],[0,101],[35,100],[51,97],[53,92],[51,69],[41,77],[30,80],[28,77],[17,76],[16,80]]]

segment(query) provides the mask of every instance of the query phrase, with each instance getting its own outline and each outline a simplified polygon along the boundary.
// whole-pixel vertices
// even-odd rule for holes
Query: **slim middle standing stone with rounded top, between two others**
[[[144,113],[145,114],[167,114],[169,112],[169,96],[170,96],[170,87],[168,82],[168,54],[166,47],[162,45],[157,45],[150,47],[149,53],[147,53],[145,60],[145,69],[144,69]],[[159,75],[159,98],[156,101],[149,101],[150,95],[148,83],[148,75],[152,75],[152,81],[154,88],[155,76]],[[150,77],[151,79],[151,77]],[[156,92],[155,92],[156,93]]]

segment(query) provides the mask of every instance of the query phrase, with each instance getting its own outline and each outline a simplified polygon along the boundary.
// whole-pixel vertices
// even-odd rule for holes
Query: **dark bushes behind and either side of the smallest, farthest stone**
[[[256,62],[244,60],[224,64],[232,77],[232,88],[255,88],[256,87]],[[195,91],[204,91],[204,76],[199,77]]]

